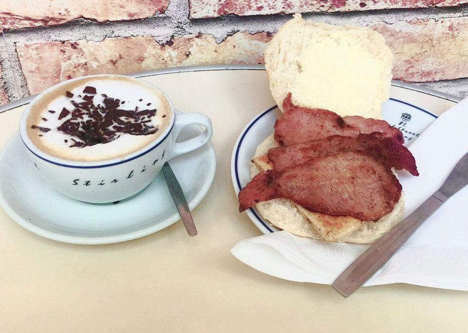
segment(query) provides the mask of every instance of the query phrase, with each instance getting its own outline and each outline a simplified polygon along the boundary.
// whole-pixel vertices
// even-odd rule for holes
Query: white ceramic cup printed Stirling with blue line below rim
[[[154,142],[131,154],[100,161],[66,160],[41,151],[26,131],[31,106],[57,87],[79,79],[100,76],[120,75],[90,75],[61,82],[36,96],[24,110],[20,122],[20,135],[27,154],[47,183],[66,196],[89,203],[111,203],[135,195],[155,179],[166,161],[203,146],[213,134],[210,118],[199,113],[177,115],[171,100],[163,91],[135,78],[140,84],[162,93],[170,105],[169,125]],[[201,125],[205,130],[187,141],[176,142],[182,129],[193,124]]]

